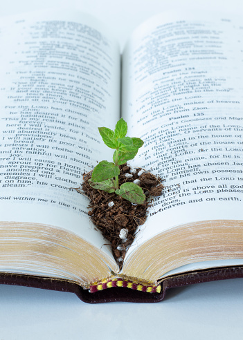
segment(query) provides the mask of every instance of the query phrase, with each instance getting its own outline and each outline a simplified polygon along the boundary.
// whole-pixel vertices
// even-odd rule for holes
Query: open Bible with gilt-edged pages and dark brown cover
[[[89,303],[161,301],[170,287],[243,277],[240,19],[161,14],[122,55],[75,11],[0,24],[0,283]],[[131,162],[165,178],[120,270],[72,190],[111,160],[98,126],[123,117]]]

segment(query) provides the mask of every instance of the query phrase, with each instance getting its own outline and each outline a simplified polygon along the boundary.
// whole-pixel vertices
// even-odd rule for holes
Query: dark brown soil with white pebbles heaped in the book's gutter
[[[163,180],[150,172],[143,171],[141,168],[130,168],[127,164],[119,167],[119,186],[125,182],[140,180],[138,185],[141,186],[146,196],[143,205],[134,205],[116,193],[93,189],[88,182],[92,171],[83,174],[81,187],[75,189],[88,196],[91,209],[89,216],[96,228],[111,243],[114,258],[122,267],[127,249],[132,245],[138,232],[138,226],[145,223],[147,210],[152,205],[152,196],[161,196],[164,187]]]

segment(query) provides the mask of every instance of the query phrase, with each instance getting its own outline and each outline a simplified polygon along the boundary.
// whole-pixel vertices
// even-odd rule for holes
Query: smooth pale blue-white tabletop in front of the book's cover
[[[243,279],[171,290],[161,303],[82,303],[75,294],[0,286],[0,339],[242,339]]]

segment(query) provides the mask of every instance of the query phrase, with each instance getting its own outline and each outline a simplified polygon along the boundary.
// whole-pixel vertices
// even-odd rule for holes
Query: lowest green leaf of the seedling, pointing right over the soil
[[[126,182],[120,186],[120,189],[115,191],[119,196],[129,200],[129,202],[136,203],[137,205],[143,205],[145,202],[145,194],[143,189],[138,187],[134,182]]]

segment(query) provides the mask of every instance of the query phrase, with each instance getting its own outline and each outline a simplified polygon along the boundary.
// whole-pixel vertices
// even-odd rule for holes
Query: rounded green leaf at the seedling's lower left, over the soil
[[[107,160],[102,160],[93,169],[91,179],[93,182],[102,182],[109,180],[115,176],[119,176],[120,169],[114,163],[109,163]]]

